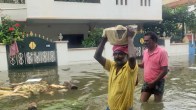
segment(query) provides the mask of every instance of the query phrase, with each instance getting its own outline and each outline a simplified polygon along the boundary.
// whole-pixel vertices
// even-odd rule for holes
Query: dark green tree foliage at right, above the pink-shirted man
[[[160,23],[145,23],[144,31],[154,31],[159,35],[165,32],[168,37],[179,36],[182,38],[184,36],[184,23],[191,29],[196,27],[194,24],[196,16],[193,12],[188,11],[187,6],[180,6],[175,9],[163,7],[162,15],[163,20]]]

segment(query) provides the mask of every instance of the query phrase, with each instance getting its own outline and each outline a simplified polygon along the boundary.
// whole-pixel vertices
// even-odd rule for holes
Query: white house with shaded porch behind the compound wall
[[[1,17],[25,22],[26,31],[53,40],[62,33],[77,45],[94,26],[162,20],[162,0],[0,0],[0,11]]]

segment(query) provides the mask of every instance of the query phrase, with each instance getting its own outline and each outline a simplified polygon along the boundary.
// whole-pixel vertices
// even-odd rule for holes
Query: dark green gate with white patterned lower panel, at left
[[[15,56],[10,56],[9,46],[6,46],[9,69],[57,65],[55,43],[44,39],[44,36],[41,38],[31,33],[17,44],[19,53]]]

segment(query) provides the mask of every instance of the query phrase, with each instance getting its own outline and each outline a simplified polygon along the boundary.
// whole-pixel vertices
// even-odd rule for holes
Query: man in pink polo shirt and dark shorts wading
[[[144,68],[144,84],[141,90],[141,101],[147,102],[154,94],[154,101],[160,102],[164,93],[165,76],[168,72],[167,51],[157,44],[158,37],[154,32],[144,35],[147,49],[143,52],[143,61],[139,67]]]

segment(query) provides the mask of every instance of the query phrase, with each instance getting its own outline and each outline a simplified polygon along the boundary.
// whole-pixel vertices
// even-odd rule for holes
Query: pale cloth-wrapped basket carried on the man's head
[[[135,27],[131,26],[135,29]],[[117,25],[103,30],[103,37],[107,37],[111,45],[127,45],[127,27]]]

